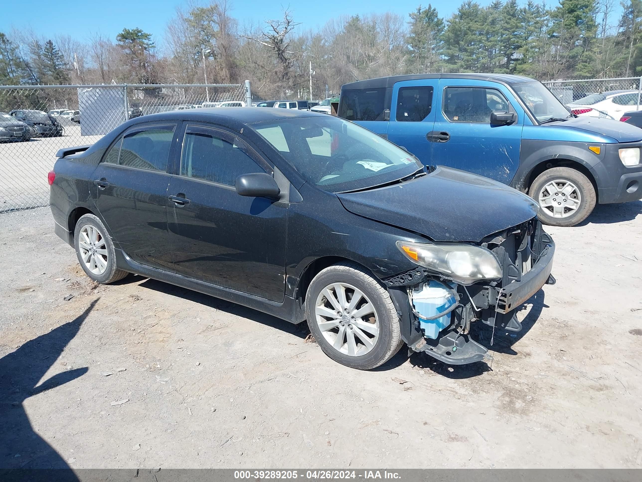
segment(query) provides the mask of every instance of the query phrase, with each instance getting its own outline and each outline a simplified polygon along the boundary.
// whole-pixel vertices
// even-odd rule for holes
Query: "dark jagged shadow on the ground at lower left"
[[[22,344],[0,359],[0,479],[27,479],[24,476],[30,472],[28,469],[67,469],[56,472],[64,475],[65,481],[77,480],[60,454],[33,429],[23,402],[87,373],[87,367],[75,368],[38,384],[76,336],[97,301],[92,301],[72,321]]]

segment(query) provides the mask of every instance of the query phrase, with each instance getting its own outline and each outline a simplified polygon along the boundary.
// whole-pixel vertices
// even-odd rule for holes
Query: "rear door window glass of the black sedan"
[[[173,137],[174,126],[150,127],[125,134],[118,164],[166,172]]]

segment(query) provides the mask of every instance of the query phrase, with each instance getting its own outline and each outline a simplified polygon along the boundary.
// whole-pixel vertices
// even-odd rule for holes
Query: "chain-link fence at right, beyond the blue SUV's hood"
[[[640,110],[642,77],[554,80],[542,84],[564,105],[571,104],[572,109],[584,114],[592,110],[596,117],[619,120],[620,112]]]

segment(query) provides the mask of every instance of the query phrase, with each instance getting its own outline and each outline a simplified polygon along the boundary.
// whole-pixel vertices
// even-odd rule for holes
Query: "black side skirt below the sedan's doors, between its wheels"
[[[205,281],[188,278],[187,276],[182,276],[182,274],[163,271],[162,269],[137,263],[127,256],[122,249],[116,249],[116,265],[118,269],[140,274],[153,280],[164,281],[165,283],[177,285],[181,288],[198,291],[209,296],[214,296],[215,298],[225,299],[225,301],[231,301],[232,303],[267,313],[284,319],[285,321],[290,321],[290,323],[301,323],[305,319],[297,301],[287,295],[284,295],[282,303],[277,303],[277,301],[270,299],[260,298],[259,296],[224,288],[211,283],[205,283]]]

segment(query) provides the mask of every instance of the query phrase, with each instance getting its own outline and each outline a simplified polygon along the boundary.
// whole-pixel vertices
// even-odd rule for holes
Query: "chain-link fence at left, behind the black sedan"
[[[49,204],[56,152],[157,112],[242,107],[250,84],[0,85],[0,213]],[[249,102],[248,102],[249,101]]]

